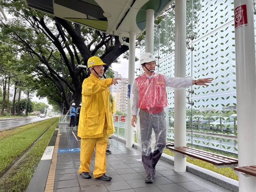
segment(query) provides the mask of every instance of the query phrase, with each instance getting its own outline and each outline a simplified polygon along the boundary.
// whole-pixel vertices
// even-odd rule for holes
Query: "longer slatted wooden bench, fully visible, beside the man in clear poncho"
[[[189,147],[166,147],[170,149],[171,151],[175,151],[178,153],[181,153],[185,156],[190,156],[195,159],[200,159],[202,161],[211,163],[217,167],[234,167],[238,164],[238,159],[228,157],[228,156],[222,156],[219,154],[195,149],[195,148],[189,148]]]

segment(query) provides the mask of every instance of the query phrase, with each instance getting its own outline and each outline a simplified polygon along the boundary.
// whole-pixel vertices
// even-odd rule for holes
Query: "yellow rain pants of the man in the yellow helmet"
[[[79,174],[82,172],[90,172],[90,164],[94,148],[96,151],[95,154],[95,168],[93,172],[94,178],[99,178],[106,173],[107,167],[107,158],[106,158],[106,149],[108,145],[107,137],[107,128],[108,122],[105,119],[103,137],[100,138],[81,138],[81,151],[80,151],[80,169]]]

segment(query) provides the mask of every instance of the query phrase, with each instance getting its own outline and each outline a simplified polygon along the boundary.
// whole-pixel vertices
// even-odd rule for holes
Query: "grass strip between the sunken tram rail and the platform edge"
[[[54,118],[56,120],[56,118]],[[58,125],[56,121],[36,145],[28,152],[27,156],[12,172],[0,183],[0,192],[24,192],[36,171],[37,165],[52,138],[52,134]]]

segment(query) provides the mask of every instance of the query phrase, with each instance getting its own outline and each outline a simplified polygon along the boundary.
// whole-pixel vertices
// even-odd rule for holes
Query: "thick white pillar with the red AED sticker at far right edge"
[[[252,0],[234,0],[238,165],[256,165],[256,63]],[[246,9],[245,9],[246,8]],[[247,11],[246,11],[247,10]],[[236,12],[238,11],[238,12]],[[240,14],[240,15],[239,15]],[[244,21],[243,18],[247,17]],[[239,192],[256,190],[256,177],[239,176]]]

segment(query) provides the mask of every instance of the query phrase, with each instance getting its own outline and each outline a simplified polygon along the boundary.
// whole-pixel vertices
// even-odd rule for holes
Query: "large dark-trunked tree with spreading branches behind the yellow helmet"
[[[63,102],[66,108],[71,101],[81,102],[81,85],[87,76],[78,65],[86,66],[87,60],[96,55],[107,64],[107,70],[128,50],[118,36],[32,10],[24,1],[3,1],[3,7],[13,16],[1,23],[3,38],[16,44],[21,59],[26,61],[24,70],[36,75],[38,85],[54,87],[55,92],[49,91],[48,96],[60,107]]]

